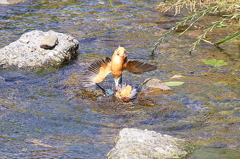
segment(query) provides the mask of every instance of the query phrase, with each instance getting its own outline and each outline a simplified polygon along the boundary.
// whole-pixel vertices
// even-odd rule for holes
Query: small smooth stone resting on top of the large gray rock
[[[58,44],[58,37],[56,35],[49,35],[42,40],[42,43],[40,44],[40,48],[53,49],[57,44]]]

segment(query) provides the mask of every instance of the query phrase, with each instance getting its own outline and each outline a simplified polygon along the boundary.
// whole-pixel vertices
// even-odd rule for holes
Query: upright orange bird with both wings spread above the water
[[[106,57],[93,62],[82,77],[83,87],[90,87],[96,84],[105,93],[105,90],[98,83],[102,82],[109,73],[112,73],[115,86],[117,87],[119,84],[122,84],[123,70],[128,70],[132,73],[143,73],[157,69],[156,66],[141,61],[128,61],[125,52],[126,50],[119,46],[114,51],[111,59]]]

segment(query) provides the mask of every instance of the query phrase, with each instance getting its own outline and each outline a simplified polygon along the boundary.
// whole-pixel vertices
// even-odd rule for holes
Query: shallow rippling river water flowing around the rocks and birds
[[[122,128],[154,130],[190,141],[187,158],[240,158],[240,50],[236,41],[218,49],[201,43],[190,55],[199,30],[169,35],[154,56],[162,33],[186,12],[173,16],[156,10],[157,0],[34,0],[0,6],[0,48],[31,30],[54,30],[76,37],[79,56],[58,69],[0,70],[0,158],[106,158]],[[206,17],[200,26],[206,26]],[[234,25],[209,36],[219,40]],[[200,27],[200,30],[202,28]],[[226,31],[227,30],[227,31]],[[87,66],[111,56],[119,46],[129,58],[158,66],[124,82],[146,78],[169,81],[184,76],[171,92],[153,91],[129,103],[85,90],[79,78]],[[224,60],[212,67],[203,59]],[[111,76],[101,83],[114,86]]]

